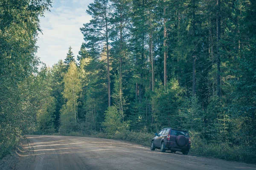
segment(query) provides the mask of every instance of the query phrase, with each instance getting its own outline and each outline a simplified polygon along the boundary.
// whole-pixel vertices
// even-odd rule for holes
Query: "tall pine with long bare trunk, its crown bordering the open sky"
[[[98,55],[107,57],[108,106],[111,106],[111,79],[109,62],[110,6],[108,0],[95,0],[86,11],[92,16],[90,23],[80,28],[84,34],[85,47],[96,49]]]

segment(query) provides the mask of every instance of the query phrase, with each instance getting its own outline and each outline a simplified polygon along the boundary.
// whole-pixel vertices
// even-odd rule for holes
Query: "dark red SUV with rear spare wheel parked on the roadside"
[[[171,153],[181,151],[183,155],[189,153],[191,146],[189,133],[186,130],[172,129],[166,127],[155,133],[155,137],[151,141],[151,150],[160,149],[161,152],[171,150]]]

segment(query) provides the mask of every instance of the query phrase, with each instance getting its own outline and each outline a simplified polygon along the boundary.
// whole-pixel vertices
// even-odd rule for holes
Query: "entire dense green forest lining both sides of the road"
[[[94,0],[77,59],[49,68],[51,3],[0,1],[0,158],[27,134],[148,146],[172,127],[195,155],[256,162],[255,0]]]

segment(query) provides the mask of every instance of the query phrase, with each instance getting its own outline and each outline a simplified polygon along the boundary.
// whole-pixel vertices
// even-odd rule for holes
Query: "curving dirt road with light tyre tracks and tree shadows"
[[[73,136],[28,136],[17,170],[256,170],[256,165],[151,151],[129,142]]]

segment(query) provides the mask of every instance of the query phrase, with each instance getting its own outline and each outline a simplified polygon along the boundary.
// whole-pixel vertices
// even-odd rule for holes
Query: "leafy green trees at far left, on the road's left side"
[[[0,1],[0,159],[35,130],[35,43],[39,17],[50,6],[51,0]]]

